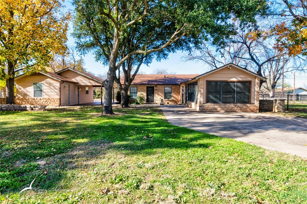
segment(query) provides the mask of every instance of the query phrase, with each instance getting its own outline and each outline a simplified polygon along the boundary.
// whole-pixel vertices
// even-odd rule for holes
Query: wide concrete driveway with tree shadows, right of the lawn
[[[260,113],[202,113],[184,105],[161,106],[167,120],[220,137],[307,157],[307,120]]]

